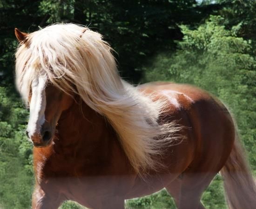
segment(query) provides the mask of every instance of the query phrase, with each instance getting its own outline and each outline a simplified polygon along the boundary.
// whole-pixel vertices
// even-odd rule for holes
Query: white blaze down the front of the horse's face
[[[31,85],[32,97],[29,105],[29,121],[27,125],[27,132],[30,139],[34,134],[40,133],[40,127],[45,122],[45,86],[46,78],[44,76],[35,78]]]

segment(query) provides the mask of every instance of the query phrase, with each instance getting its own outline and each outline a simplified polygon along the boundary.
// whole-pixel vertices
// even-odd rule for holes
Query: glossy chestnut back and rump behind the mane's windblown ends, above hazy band
[[[234,124],[225,106],[209,93],[191,85],[148,83],[139,87],[146,94],[164,95],[168,117],[182,125],[186,138],[169,147],[170,172],[218,172],[227,160],[235,138]]]

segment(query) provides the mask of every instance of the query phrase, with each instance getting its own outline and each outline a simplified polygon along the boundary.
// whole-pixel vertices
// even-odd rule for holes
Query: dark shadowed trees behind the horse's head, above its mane
[[[0,72],[12,73],[16,46],[13,29],[33,32],[55,22],[89,25],[111,43],[118,55],[121,75],[133,82],[142,76],[141,64],[159,50],[175,50],[181,39],[178,24],[195,25],[214,8],[195,0],[12,0],[0,1]],[[204,11],[204,12],[202,12]],[[207,13],[205,13],[207,11]],[[12,34],[12,36],[10,35]],[[0,62],[1,63],[1,62]],[[4,68],[2,68],[4,67]]]

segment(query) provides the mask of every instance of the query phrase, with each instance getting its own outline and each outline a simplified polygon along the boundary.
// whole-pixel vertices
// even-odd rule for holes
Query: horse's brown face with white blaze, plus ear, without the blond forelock
[[[21,44],[26,44],[28,34],[15,29],[15,35]],[[31,68],[33,66],[28,67],[27,70]],[[61,113],[72,105],[74,99],[71,95],[54,87],[48,81],[46,74],[35,74],[33,79],[29,80],[31,81],[27,96],[29,121],[26,133],[35,147],[45,147],[53,139]]]

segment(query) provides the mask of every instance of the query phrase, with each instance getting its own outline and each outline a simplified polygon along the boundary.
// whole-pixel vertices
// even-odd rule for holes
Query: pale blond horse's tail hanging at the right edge
[[[221,170],[226,198],[231,209],[255,209],[256,185],[236,131],[236,139]]]

